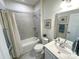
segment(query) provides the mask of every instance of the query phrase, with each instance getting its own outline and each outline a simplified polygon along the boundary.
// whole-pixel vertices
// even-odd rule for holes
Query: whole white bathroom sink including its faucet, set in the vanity
[[[66,39],[58,37],[55,40],[55,46],[58,49],[58,53],[71,54],[72,50],[69,43],[70,42]]]

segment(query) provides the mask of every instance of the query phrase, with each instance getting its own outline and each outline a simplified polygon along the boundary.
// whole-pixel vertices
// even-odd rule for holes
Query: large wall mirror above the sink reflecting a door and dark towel
[[[56,20],[56,36],[62,37],[74,42],[79,37],[79,10],[71,10],[67,12],[57,13]]]

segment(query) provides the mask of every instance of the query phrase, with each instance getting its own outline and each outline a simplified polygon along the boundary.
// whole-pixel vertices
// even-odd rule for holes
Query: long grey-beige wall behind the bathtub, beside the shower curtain
[[[32,13],[15,13],[15,19],[22,40],[34,36]]]

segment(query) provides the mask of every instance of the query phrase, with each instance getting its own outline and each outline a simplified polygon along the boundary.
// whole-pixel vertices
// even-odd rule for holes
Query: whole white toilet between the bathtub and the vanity
[[[47,43],[48,43],[48,39],[46,37],[43,37],[42,44],[38,43],[38,44],[35,45],[34,51],[35,51],[36,59],[42,59],[42,55],[44,53],[43,47]]]

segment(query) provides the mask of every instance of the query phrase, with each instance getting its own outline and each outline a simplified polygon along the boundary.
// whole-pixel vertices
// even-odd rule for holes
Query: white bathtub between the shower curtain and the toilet
[[[28,53],[33,49],[33,47],[39,42],[40,40],[36,37],[31,37],[28,39],[22,40],[22,52],[21,54]]]

